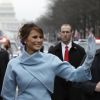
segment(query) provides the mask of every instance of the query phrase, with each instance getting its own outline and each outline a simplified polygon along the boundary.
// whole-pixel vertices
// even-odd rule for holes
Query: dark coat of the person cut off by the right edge
[[[84,100],[100,100],[100,92],[95,91],[96,84],[100,82],[100,49],[97,50],[91,66],[92,79],[76,86],[84,93]],[[74,85],[75,86],[75,83]]]

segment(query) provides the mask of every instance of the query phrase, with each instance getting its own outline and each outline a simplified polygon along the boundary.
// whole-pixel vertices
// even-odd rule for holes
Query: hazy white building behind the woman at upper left
[[[2,0],[0,3],[0,30],[3,35],[10,40],[15,40],[19,27],[20,22],[16,19],[12,3],[9,0]]]

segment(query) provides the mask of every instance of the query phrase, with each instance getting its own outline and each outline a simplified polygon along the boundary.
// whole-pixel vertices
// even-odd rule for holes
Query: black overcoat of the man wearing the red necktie
[[[63,61],[61,43],[57,44],[55,47],[50,49],[49,53],[58,56]],[[73,66],[75,66],[75,68],[77,68],[81,64],[84,56],[85,56],[85,50],[81,46],[72,42],[72,48],[69,51],[69,62]],[[54,100],[78,100],[79,92],[77,93],[77,91],[72,88],[75,87],[71,87],[71,82],[66,82],[64,79],[56,76],[55,83],[54,83],[53,99]],[[75,92],[73,92],[74,90]]]

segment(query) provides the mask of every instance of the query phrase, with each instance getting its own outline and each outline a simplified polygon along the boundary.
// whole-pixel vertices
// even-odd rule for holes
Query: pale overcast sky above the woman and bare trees
[[[46,12],[47,1],[48,0],[0,0],[0,3],[11,2],[18,20],[36,20]]]

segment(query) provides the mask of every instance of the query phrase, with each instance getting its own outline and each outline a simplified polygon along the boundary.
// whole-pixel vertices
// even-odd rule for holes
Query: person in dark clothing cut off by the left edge
[[[4,79],[8,61],[9,61],[8,52],[0,47],[0,93],[1,93],[3,79]],[[0,96],[0,100],[3,100],[1,96]]]

